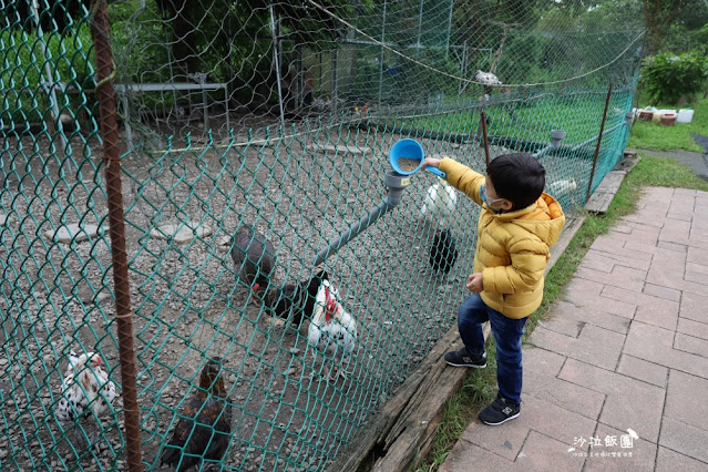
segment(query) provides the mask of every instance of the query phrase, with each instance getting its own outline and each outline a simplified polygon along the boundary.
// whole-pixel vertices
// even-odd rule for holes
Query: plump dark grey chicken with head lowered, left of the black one
[[[247,284],[258,296],[268,291],[276,261],[275,248],[264,235],[243,225],[234,235],[232,258],[238,271],[237,281]]]

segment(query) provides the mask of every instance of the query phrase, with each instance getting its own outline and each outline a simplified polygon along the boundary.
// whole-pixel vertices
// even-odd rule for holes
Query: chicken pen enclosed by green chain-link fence
[[[423,217],[427,172],[368,219],[391,145],[481,171],[534,153],[568,214],[623,155],[642,14],[565,3],[0,0],[2,470],[160,469],[215,358],[227,428],[187,435],[225,449],[183,465],[337,470],[454,326],[474,257],[479,207]],[[235,265],[247,226],[299,324]],[[347,348],[279,290],[322,269]]]

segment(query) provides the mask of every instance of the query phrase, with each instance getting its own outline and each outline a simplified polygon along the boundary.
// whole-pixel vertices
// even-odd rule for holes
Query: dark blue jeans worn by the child
[[[482,324],[492,326],[496,343],[496,382],[499,393],[507,400],[521,402],[522,366],[521,337],[529,317],[513,319],[488,307],[479,294],[464,300],[458,312],[458,329],[464,347],[471,355],[484,352]]]

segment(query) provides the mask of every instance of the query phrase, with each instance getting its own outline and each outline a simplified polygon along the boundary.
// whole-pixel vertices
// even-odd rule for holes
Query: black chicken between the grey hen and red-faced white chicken
[[[266,308],[273,315],[299,328],[302,315],[311,316],[315,311],[317,290],[326,278],[328,278],[327,273],[320,270],[310,279],[297,285],[286,284],[283,288],[273,288],[266,295]]]

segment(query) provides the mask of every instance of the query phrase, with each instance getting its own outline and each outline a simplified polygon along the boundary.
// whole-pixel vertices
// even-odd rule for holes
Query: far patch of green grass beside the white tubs
[[[675,109],[674,106],[657,106],[658,109]],[[651,122],[636,122],[629,135],[629,147],[651,151],[685,150],[702,152],[691,134],[708,136],[708,99],[701,99],[692,105],[694,120],[676,123],[675,126],[664,126]]]

